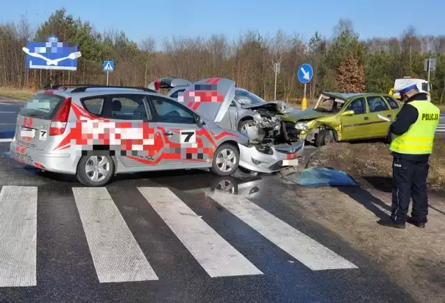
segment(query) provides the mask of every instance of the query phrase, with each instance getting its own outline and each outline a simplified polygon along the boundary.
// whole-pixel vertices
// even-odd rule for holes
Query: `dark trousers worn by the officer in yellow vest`
[[[391,205],[391,218],[394,223],[405,224],[410,198],[412,198],[412,219],[417,223],[426,223],[428,170],[428,159],[405,159],[394,155]]]

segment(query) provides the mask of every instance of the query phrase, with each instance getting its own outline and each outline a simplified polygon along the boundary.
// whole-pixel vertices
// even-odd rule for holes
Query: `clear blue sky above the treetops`
[[[229,39],[248,29],[261,34],[299,33],[304,40],[321,32],[330,37],[340,18],[351,19],[360,37],[399,36],[408,26],[422,35],[445,35],[444,0],[2,0],[1,21],[26,15],[33,27],[65,6],[97,31],[122,29],[136,42],[153,37],[160,45],[172,35]],[[6,3],[5,3],[6,2]],[[102,4],[103,3],[103,4]]]

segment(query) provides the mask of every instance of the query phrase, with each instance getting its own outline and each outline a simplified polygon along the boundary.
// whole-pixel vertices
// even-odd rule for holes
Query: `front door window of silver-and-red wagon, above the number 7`
[[[161,96],[150,96],[150,101],[152,101],[159,122],[196,124],[195,114],[177,101]]]

